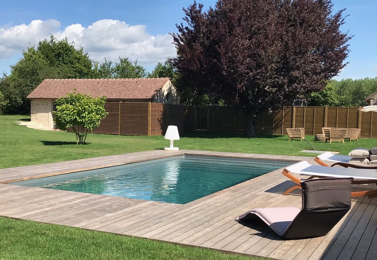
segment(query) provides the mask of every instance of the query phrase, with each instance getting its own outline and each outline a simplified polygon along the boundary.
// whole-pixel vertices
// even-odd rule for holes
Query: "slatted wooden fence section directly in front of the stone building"
[[[168,125],[183,132],[183,105],[106,102],[109,113],[92,133],[112,135],[164,135]]]

